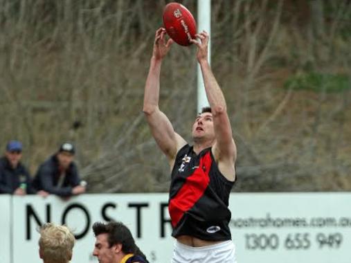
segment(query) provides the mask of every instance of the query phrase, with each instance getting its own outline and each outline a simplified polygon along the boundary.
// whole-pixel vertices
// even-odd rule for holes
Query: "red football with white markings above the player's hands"
[[[163,25],[170,38],[181,46],[195,39],[196,22],[191,12],[180,3],[168,3],[163,10]]]

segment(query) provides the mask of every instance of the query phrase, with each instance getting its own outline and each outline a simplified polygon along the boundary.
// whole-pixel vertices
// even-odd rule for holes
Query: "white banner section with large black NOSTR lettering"
[[[122,221],[128,226],[150,262],[166,262],[173,246],[167,197],[167,194],[85,194],[68,201],[54,196],[15,198],[13,263],[37,262],[37,227],[46,221],[66,224],[73,230],[78,241],[72,263],[98,262],[92,256],[95,237],[91,226],[96,221],[109,220]]]

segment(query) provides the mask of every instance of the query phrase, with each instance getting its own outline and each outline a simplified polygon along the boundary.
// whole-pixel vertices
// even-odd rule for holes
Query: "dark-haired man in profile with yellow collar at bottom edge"
[[[121,222],[96,222],[93,233],[96,237],[93,255],[100,263],[148,263],[132,233]]]

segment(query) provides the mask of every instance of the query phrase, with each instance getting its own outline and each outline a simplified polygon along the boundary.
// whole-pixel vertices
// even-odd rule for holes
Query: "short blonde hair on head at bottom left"
[[[75,238],[66,226],[46,223],[39,228],[39,253],[44,262],[67,263],[71,260]]]

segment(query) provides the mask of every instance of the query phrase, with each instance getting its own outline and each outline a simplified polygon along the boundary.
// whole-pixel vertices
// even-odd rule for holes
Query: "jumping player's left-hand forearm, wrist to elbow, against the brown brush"
[[[145,114],[150,114],[156,107],[159,107],[161,64],[162,60],[157,60],[155,57],[151,58],[144,93],[143,111]]]

